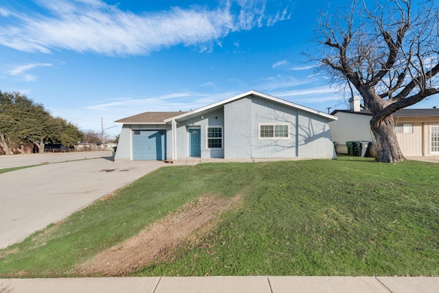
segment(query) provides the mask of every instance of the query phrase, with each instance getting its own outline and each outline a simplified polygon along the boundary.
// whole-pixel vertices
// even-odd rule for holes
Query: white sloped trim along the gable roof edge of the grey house
[[[263,98],[269,99],[269,100],[271,100],[273,102],[277,102],[277,103],[280,103],[280,104],[284,104],[284,105],[287,105],[287,106],[298,108],[300,110],[304,110],[304,111],[309,112],[309,113],[320,115],[322,117],[325,117],[325,118],[328,118],[328,119],[331,119],[331,120],[337,120],[338,119],[338,117],[335,117],[333,115],[329,115],[327,113],[323,113],[323,112],[320,112],[318,110],[314,110],[314,109],[311,109],[311,108],[308,108],[308,107],[305,107],[305,106],[300,106],[298,104],[294,104],[292,102],[288,102],[285,99],[279,99],[278,97],[273,97],[272,95],[267,95],[265,93],[260,93],[259,91],[251,90],[251,91],[246,91],[245,93],[241,93],[239,95],[235,95],[233,97],[229,97],[228,99],[223,99],[222,101],[219,101],[219,102],[216,102],[216,103],[213,103],[213,104],[210,104],[210,105],[207,105],[207,106],[204,106],[204,107],[201,107],[201,108],[189,111],[187,113],[183,113],[181,115],[177,115],[177,116],[174,116],[174,117],[169,117],[167,119],[164,119],[163,121],[165,121],[165,123],[168,123],[170,121],[178,120],[180,118],[184,118],[184,117],[187,117],[187,116],[190,116],[190,115],[193,115],[193,114],[203,113],[204,111],[209,111],[209,109],[211,109],[211,108],[215,108],[217,106],[222,106],[224,104],[233,102],[236,99],[241,99],[241,98],[246,97],[248,95],[256,95],[257,97],[263,97]]]

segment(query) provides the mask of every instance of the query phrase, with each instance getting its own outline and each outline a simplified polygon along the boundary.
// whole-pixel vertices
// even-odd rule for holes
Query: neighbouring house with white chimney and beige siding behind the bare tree
[[[372,114],[361,109],[360,97],[350,100],[349,110],[334,110],[331,115],[338,117],[329,122],[337,153],[348,153],[346,141],[374,141],[370,130]],[[396,111],[393,118],[404,156],[439,155],[439,109],[404,108]]]

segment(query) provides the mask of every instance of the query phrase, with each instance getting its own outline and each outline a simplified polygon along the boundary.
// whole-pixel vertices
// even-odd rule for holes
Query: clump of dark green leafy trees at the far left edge
[[[34,143],[43,153],[45,143],[74,145],[82,132],[62,118],[54,118],[43,105],[21,93],[0,91],[0,145],[5,154],[20,140]]]

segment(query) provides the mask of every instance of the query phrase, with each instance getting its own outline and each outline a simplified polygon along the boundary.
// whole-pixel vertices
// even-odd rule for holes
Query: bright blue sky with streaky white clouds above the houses
[[[0,90],[24,93],[82,130],[100,132],[102,118],[107,136],[119,134],[117,119],[252,89],[323,112],[344,109],[342,93],[302,55],[329,2],[349,3],[2,1]]]

